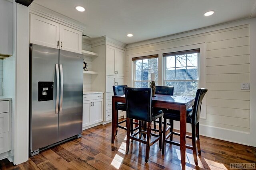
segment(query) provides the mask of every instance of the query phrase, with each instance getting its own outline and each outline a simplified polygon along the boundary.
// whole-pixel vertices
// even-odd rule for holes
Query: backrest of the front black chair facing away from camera
[[[124,88],[126,99],[126,116],[130,119],[151,122],[152,92],[151,88]]]

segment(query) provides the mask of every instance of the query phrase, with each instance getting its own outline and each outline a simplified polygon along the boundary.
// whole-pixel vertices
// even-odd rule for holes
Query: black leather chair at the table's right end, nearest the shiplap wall
[[[204,98],[204,95],[206,94],[208,90],[205,88],[198,89],[196,91],[196,98],[194,101],[194,106],[192,108],[187,110],[187,123],[190,123],[192,126],[192,137],[187,136],[187,138],[192,139],[192,146],[186,145],[188,149],[193,150],[193,156],[194,156],[194,161],[195,164],[198,165],[198,160],[197,160],[197,149],[198,153],[201,154],[201,148],[200,148],[200,141],[199,141],[199,120],[200,120],[200,112],[201,112],[201,105],[202,105],[202,100]],[[176,133],[173,131],[173,126],[172,127],[167,127],[166,128],[166,119],[169,119],[172,121],[180,121],[180,111],[174,111],[174,110],[167,110],[164,113],[164,132],[163,132],[163,147],[162,147],[162,154],[164,154],[164,146],[165,143],[170,143],[174,145],[180,146],[180,143],[172,141],[173,135],[180,135],[179,133]],[[166,131],[171,129],[171,132],[166,135]],[[170,137],[170,141],[168,138]],[[197,145],[197,146],[196,146]],[[197,147],[197,149],[196,149]]]

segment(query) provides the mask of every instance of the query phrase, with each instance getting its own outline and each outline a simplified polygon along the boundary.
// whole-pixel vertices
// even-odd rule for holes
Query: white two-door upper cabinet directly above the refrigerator
[[[30,43],[81,53],[82,32],[30,14]]]

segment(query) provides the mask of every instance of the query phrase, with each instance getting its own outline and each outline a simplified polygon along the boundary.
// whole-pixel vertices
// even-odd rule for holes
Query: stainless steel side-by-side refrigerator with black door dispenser
[[[81,137],[83,55],[30,44],[30,155]]]

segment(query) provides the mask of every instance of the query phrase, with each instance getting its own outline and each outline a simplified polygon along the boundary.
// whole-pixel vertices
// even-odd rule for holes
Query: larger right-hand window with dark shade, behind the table
[[[195,96],[198,89],[199,49],[165,53],[164,84],[174,86],[174,95]]]

